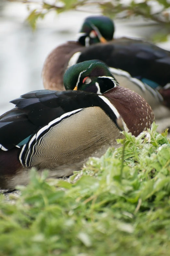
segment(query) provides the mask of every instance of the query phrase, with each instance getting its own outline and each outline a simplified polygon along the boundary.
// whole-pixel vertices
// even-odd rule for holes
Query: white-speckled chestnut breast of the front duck
[[[149,104],[135,92],[117,86],[105,94],[123,118],[129,132],[137,136],[153,123],[154,114]]]

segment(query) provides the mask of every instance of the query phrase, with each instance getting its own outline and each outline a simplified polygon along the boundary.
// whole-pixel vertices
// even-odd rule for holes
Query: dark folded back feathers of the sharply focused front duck
[[[16,105],[0,117],[0,144],[11,149],[64,113],[99,106],[116,122],[116,116],[97,95],[81,91],[40,90],[11,101]],[[31,138],[30,138],[31,139]]]

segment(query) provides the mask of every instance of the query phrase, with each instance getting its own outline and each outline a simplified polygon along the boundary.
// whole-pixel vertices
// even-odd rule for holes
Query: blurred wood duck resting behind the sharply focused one
[[[78,42],[64,43],[47,57],[42,71],[46,89],[65,90],[63,76],[68,67],[85,60],[98,59],[114,68],[112,74],[120,85],[140,94],[152,108],[158,104],[170,107],[169,97],[166,97],[170,94],[170,88],[166,88],[166,91],[163,89],[170,83],[169,51],[142,40],[113,40],[114,24],[105,16],[86,18],[80,32]],[[128,73],[120,72],[120,69]],[[132,81],[131,76],[136,79]],[[160,90],[163,101],[155,89]]]

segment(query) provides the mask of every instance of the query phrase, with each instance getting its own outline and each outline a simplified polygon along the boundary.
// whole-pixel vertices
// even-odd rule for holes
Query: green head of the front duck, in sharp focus
[[[87,60],[75,64],[64,74],[66,90],[81,90],[97,94],[119,85],[108,66],[100,60]]]

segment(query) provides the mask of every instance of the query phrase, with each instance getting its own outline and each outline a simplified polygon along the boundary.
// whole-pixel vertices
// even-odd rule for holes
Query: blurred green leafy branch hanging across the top
[[[68,10],[94,10],[95,14],[102,13],[110,18],[130,18],[141,16],[148,21],[154,21],[160,26],[160,32],[156,33],[152,40],[155,42],[166,41],[170,34],[170,2],[169,0],[8,0],[11,2],[21,2],[28,6],[30,14],[27,18],[33,29],[36,27],[37,19],[43,19],[51,11],[57,14]],[[32,5],[34,4],[34,5]],[[33,7],[34,6],[34,7]],[[36,7],[35,7],[36,6]],[[98,12],[97,12],[98,11]],[[94,14],[94,12],[92,12]],[[118,17],[118,16],[117,16]]]

